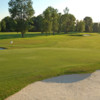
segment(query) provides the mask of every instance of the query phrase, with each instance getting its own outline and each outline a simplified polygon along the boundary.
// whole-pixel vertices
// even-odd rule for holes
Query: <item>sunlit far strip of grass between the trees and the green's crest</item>
[[[58,47],[58,48],[83,48],[100,49],[100,34],[88,33],[90,36],[83,36],[87,33],[60,34],[60,35],[41,35],[41,33],[28,33],[25,38],[20,38],[16,33],[0,33],[0,47],[6,48],[40,48],[40,47]],[[3,37],[3,38],[2,38]],[[11,45],[10,41],[14,41]]]

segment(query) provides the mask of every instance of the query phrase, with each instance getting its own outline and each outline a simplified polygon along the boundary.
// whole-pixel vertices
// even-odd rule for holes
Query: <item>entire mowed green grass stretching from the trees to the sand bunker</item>
[[[0,33],[0,47],[8,48],[0,50],[0,100],[35,81],[100,69],[98,33],[27,33],[25,38],[20,37]]]

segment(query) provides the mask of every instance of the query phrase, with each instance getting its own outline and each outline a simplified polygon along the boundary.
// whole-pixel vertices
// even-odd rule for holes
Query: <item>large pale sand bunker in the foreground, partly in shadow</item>
[[[100,71],[35,82],[6,100],[100,100]]]

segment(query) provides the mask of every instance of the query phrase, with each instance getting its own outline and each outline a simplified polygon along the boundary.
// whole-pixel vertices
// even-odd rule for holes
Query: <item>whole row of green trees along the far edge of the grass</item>
[[[1,32],[21,32],[22,35],[26,31],[47,34],[100,32],[100,23],[93,23],[91,17],[76,20],[67,7],[64,9],[64,14],[50,6],[42,14],[33,17],[34,9],[31,0],[11,0],[9,12],[11,17],[7,16],[0,21]]]

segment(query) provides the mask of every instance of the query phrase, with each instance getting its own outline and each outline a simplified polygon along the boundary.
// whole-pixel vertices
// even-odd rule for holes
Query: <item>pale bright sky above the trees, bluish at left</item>
[[[0,20],[10,16],[8,11],[8,2],[10,0],[0,0]],[[76,19],[83,20],[86,16],[92,17],[94,22],[100,22],[100,0],[32,0],[35,16],[42,14],[48,7],[52,6],[63,13],[68,7],[69,13],[73,14]]]

